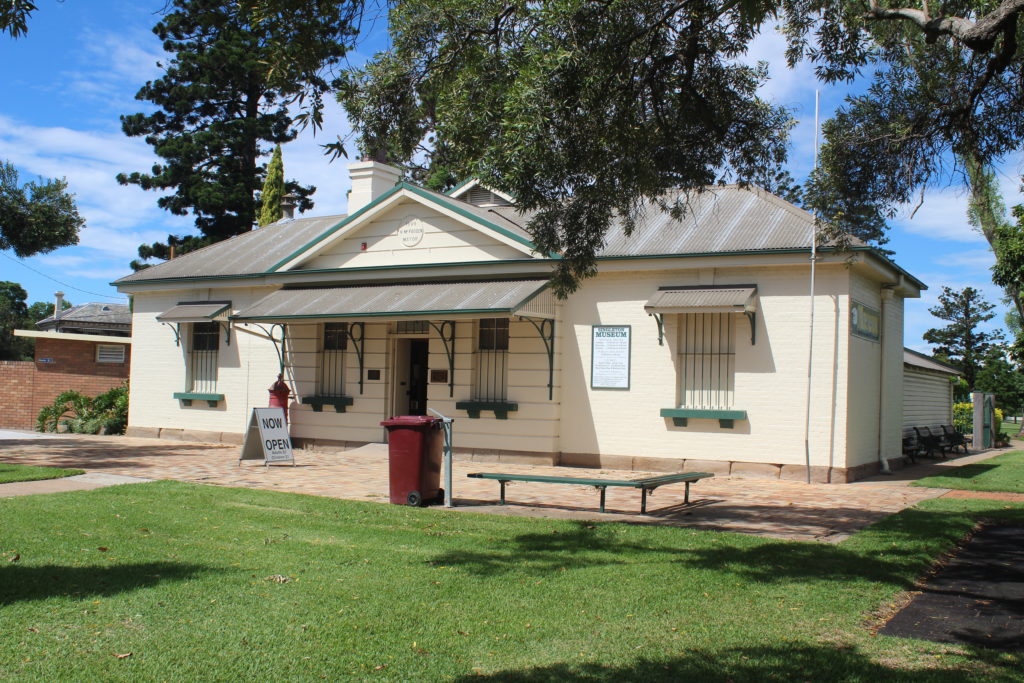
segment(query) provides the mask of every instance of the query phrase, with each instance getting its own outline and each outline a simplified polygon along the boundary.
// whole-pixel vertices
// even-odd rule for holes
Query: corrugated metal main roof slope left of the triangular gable
[[[344,218],[344,215],[338,215],[279,221],[158,263],[115,284],[169,278],[259,274]]]

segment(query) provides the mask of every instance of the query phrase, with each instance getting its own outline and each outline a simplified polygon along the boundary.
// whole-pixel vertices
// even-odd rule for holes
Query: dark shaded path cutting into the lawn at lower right
[[[985,526],[879,633],[1024,652],[1024,526]]]

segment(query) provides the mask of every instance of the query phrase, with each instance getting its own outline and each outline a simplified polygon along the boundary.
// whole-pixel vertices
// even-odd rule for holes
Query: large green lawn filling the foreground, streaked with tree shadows
[[[868,628],[979,516],[1024,523],[930,501],[826,545],[170,481],[3,499],[0,677],[1022,680]]]

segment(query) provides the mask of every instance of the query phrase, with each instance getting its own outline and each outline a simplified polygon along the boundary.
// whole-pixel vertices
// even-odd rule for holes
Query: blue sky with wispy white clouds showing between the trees
[[[157,207],[159,194],[122,187],[122,171],[146,170],[155,161],[148,145],[121,133],[119,116],[144,110],[134,94],[160,75],[162,52],[151,29],[164,0],[41,0],[29,35],[0,37],[0,159],[13,163],[23,180],[67,177],[87,220],[80,244],[19,261],[0,252],[0,280],[20,283],[29,301],[52,299],[61,289],[75,303],[123,299],[109,283],[129,272],[128,262],[143,242],[191,229],[188,217]],[[384,23],[367,27],[368,36],[349,56],[359,63],[385,44]],[[786,69],[784,44],[766,33],[753,46],[752,60],[766,60],[771,79],[763,94],[790,108],[799,120],[794,131],[791,172],[802,179],[813,165],[814,91],[821,90],[822,119],[842,102],[847,86],[822,86],[807,65]],[[854,86],[856,87],[856,86]],[[341,109],[331,102],[325,130],[285,146],[288,177],[314,184],[312,213],[344,213],[348,178],[343,163],[328,163],[322,142],[350,131]],[[1024,202],[1019,179],[1024,157],[1006,160],[1000,182],[1008,204]],[[927,350],[921,335],[936,321],[928,312],[942,286],[976,287],[989,301],[1000,293],[990,281],[992,256],[984,239],[967,222],[963,189],[928,193],[910,218],[905,209],[893,221],[890,243],[896,261],[930,287],[908,300],[905,343]],[[14,260],[11,260],[14,259]],[[60,281],[59,283],[54,282]],[[998,322],[998,321],[996,321]]]

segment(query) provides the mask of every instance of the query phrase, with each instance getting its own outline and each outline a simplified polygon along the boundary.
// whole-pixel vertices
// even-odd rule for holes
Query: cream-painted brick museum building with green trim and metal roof
[[[805,432],[805,211],[735,186],[681,220],[651,208],[560,301],[557,255],[509,198],[350,169],[347,216],[116,283],[133,299],[130,433],[241,441],[284,372],[308,447],[382,441],[381,420],[432,409],[478,460],[802,479],[809,452],[816,480],[846,481],[901,457],[903,301],[924,285],[864,245],[818,252]]]

